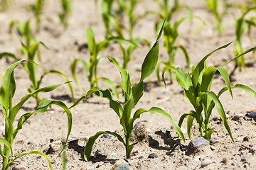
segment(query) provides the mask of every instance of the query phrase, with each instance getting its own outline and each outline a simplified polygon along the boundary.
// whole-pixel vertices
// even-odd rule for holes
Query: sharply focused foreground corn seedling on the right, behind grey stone
[[[228,47],[230,43],[228,43],[227,45],[223,45],[222,47],[219,47],[213,52]],[[256,50],[256,47],[247,50],[246,52],[243,52],[242,54],[235,57],[235,59],[241,57],[242,55],[245,55],[247,52],[250,52],[252,50]],[[233,94],[231,91],[231,89],[233,88],[244,89],[245,91],[252,94],[252,96],[254,96],[255,98],[256,93],[249,87],[242,84],[230,86],[228,72],[224,67],[207,67],[206,60],[208,57],[210,57],[210,55],[213,54],[213,52],[210,52],[208,55],[206,55],[206,57],[203,57],[203,59],[197,64],[197,66],[193,67],[192,74],[182,72],[179,67],[164,67],[162,71],[162,78],[164,80],[164,72],[166,72],[166,70],[175,70],[178,85],[180,85],[184,89],[184,96],[188,99],[188,101],[191,102],[194,108],[194,110],[191,110],[189,113],[181,115],[181,118],[178,122],[178,126],[181,127],[183,120],[187,118],[187,132],[189,138],[191,138],[191,128],[193,125],[193,120],[196,119],[196,123],[198,125],[198,129],[201,136],[204,137],[206,140],[210,140],[212,133],[215,131],[211,130],[208,127],[208,125],[210,123],[210,115],[213,111],[213,108],[216,106],[220,118],[223,120],[225,129],[228,131],[228,134],[234,141],[230,127],[228,125],[223,105],[222,103],[220,103],[219,97],[221,94],[223,94],[223,92],[229,91],[230,96],[233,98]],[[215,94],[213,91],[210,91],[210,87],[213,81],[213,76],[217,71],[220,72],[221,76],[225,81],[226,86],[223,87],[223,89],[221,89],[218,94]],[[164,84],[166,85],[165,81]]]

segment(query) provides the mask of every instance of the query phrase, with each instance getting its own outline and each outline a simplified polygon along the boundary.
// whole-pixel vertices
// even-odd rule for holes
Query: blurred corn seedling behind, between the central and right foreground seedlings
[[[174,24],[171,24],[171,22],[167,22],[166,25],[164,26],[164,49],[169,55],[169,61],[168,62],[163,62],[159,61],[159,63],[156,66],[156,78],[158,79],[159,83],[161,82],[160,77],[159,77],[159,67],[160,64],[164,64],[165,66],[173,66],[174,65],[174,57],[176,50],[180,49],[183,52],[183,55],[186,59],[186,64],[188,67],[188,71],[191,70],[190,67],[190,59],[188,56],[188,52],[186,52],[186,48],[183,45],[175,45],[176,38],[178,38],[178,27],[181,25],[183,21],[185,21],[187,18],[193,18],[193,16],[186,16],[183,18],[178,19],[177,21],[174,22]],[[195,17],[197,18],[197,17]],[[198,18],[200,19],[200,18]],[[170,81],[172,83],[174,73],[172,70],[169,70],[170,74]]]

